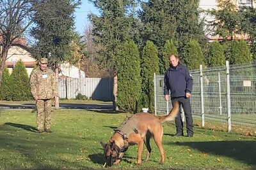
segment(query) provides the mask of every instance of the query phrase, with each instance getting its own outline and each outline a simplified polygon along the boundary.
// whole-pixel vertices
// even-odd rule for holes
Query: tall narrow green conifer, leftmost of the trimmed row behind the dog
[[[140,53],[134,41],[126,42],[118,60],[118,100],[120,110],[137,112],[141,94]]]

